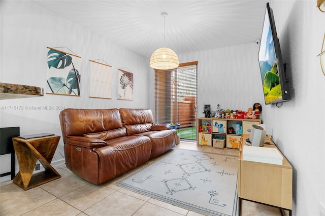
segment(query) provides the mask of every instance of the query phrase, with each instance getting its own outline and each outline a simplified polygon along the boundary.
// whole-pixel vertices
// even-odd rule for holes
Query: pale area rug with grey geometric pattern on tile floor
[[[205,215],[238,215],[238,156],[175,149],[116,185]]]

